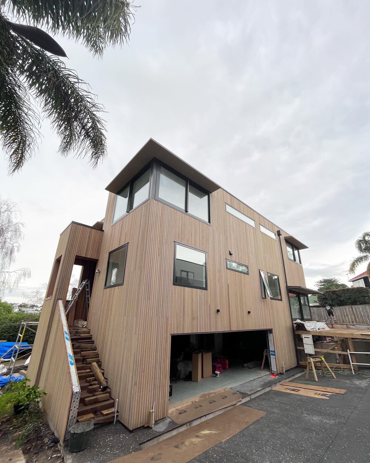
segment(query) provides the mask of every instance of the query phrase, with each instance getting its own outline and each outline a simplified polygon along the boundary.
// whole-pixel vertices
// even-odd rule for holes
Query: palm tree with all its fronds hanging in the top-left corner
[[[62,156],[88,156],[96,167],[106,153],[103,107],[56,57],[66,56],[64,50],[36,26],[81,40],[101,57],[108,44],[128,41],[133,9],[126,0],[0,0],[0,140],[10,174],[37,149],[40,114],[34,102],[51,120]]]

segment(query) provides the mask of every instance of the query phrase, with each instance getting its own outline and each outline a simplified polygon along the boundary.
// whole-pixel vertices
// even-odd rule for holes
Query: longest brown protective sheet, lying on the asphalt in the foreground
[[[225,442],[265,414],[254,408],[234,407],[158,444],[110,463],[186,463],[219,442]]]

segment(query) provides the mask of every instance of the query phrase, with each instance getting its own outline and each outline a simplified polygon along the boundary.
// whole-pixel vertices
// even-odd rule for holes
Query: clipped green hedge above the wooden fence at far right
[[[323,294],[318,294],[317,301],[321,307],[370,304],[370,288],[327,289]]]

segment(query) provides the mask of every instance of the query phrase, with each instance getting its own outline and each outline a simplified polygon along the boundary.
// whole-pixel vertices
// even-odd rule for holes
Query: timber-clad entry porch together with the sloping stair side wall
[[[28,368],[32,384],[37,382],[48,393],[42,400],[43,407],[61,440],[66,431],[72,385],[57,300],[62,299],[65,304],[76,256],[98,259],[102,235],[99,230],[75,223],[62,232],[53,261],[54,267],[61,257],[53,295],[44,302]],[[60,324],[58,328],[56,323]]]

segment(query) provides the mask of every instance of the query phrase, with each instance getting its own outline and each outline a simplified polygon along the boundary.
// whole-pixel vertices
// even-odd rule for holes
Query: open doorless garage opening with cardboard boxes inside
[[[268,352],[266,330],[172,335],[169,404],[268,375]]]

